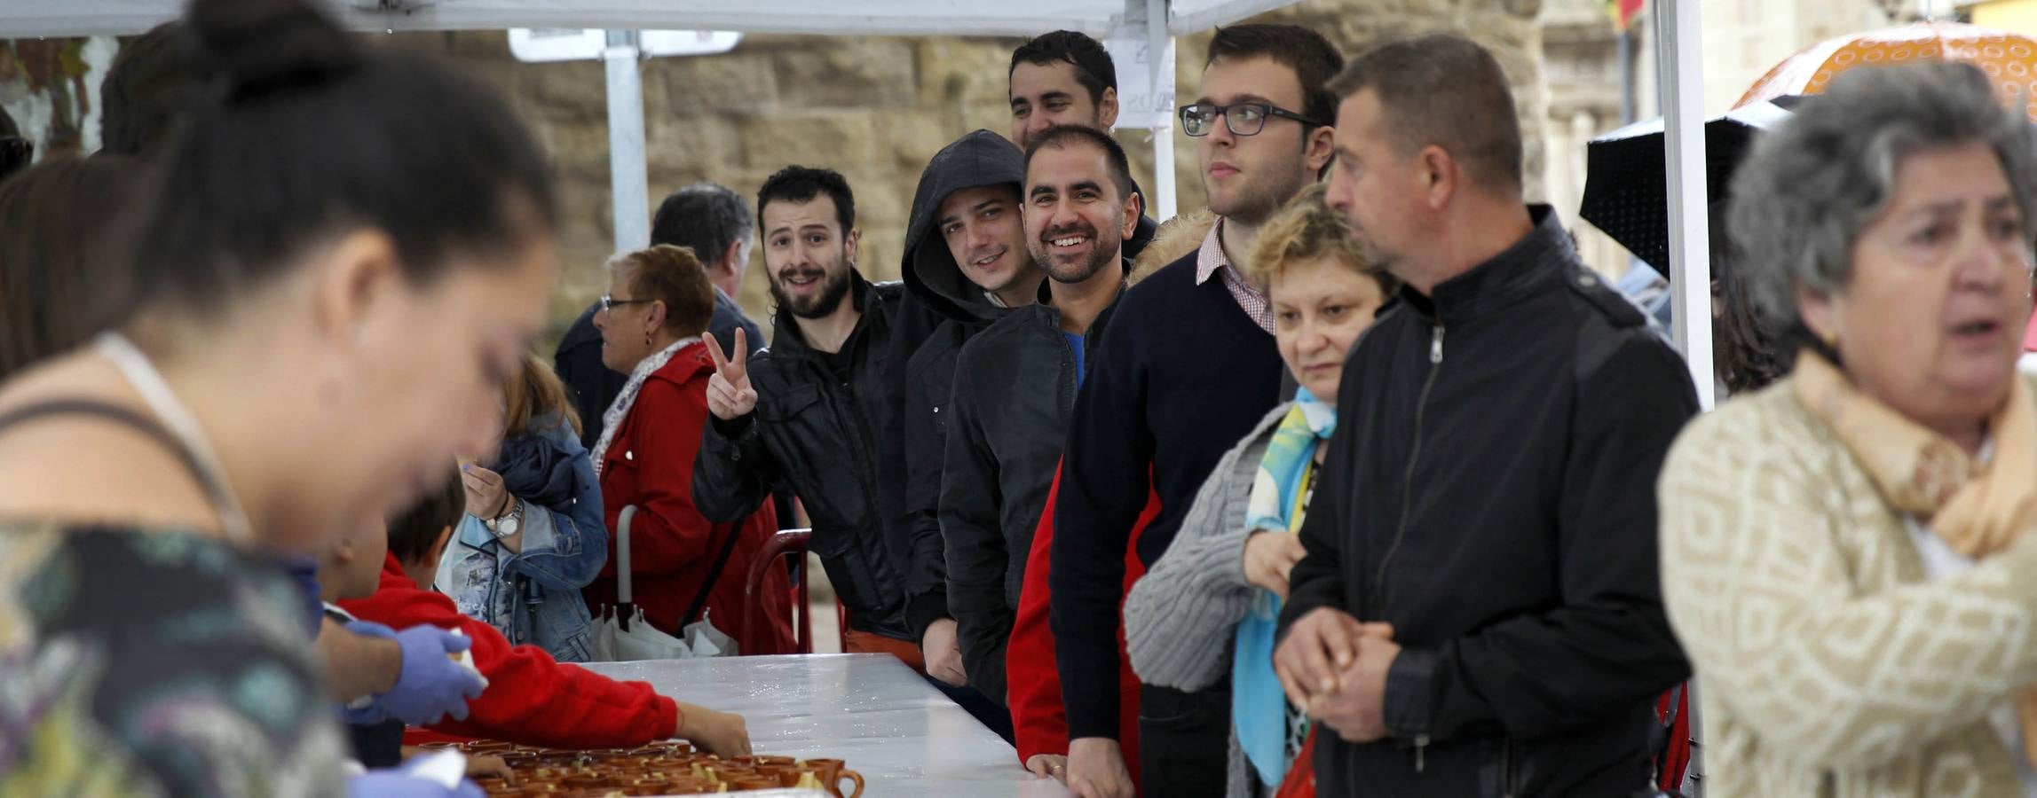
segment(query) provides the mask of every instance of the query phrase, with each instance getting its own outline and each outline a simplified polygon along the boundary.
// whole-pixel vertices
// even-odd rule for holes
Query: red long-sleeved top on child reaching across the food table
[[[650,684],[552,662],[536,645],[509,645],[495,627],[460,615],[452,598],[420,590],[393,554],[383,562],[381,588],[340,609],[391,629],[434,625],[473,637],[475,668],[489,688],[466,702],[466,721],[436,723],[432,731],[581,749],[644,745],[678,729],[678,706]]]

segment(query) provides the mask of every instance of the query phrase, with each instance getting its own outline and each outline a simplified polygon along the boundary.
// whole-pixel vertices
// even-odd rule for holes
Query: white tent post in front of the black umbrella
[[[1711,409],[1711,224],[1705,191],[1705,49],[1699,0],[1658,0],[1656,73],[1662,94],[1664,167],[1668,173],[1670,326],[1697,385],[1697,403]]]

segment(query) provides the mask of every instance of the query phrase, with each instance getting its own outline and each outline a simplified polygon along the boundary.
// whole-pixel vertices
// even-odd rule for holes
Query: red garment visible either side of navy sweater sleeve
[[[1033,548],[1025,562],[1025,586],[1018,590],[1018,617],[1012,621],[1012,637],[1004,649],[1004,680],[1010,692],[1012,733],[1018,743],[1018,761],[1035,753],[1067,753],[1067,710],[1061,704],[1061,672],[1053,662],[1053,629],[1047,627],[1049,590],[1047,572],[1053,562],[1053,503],[1061,493],[1061,470],[1055,466],[1053,487],[1047,489],[1047,509],[1039,513],[1039,527],[1033,531]],[[1145,576],[1139,562],[1139,533],[1153,515],[1159,513],[1159,497],[1147,495],[1147,507],[1133,525],[1133,546],[1124,554],[1124,592]],[[1124,765],[1139,784],[1139,676],[1133,674],[1131,656],[1124,653],[1124,629],[1118,629],[1118,747],[1124,749]]]

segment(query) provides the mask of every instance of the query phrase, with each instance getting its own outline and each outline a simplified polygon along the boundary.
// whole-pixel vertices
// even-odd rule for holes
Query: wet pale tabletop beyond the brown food
[[[587,664],[650,682],[662,696],[739,712],[756,753],[845,759],[866,798],[1063,798],[1059,782],[1018,765],[1018,753],[896,658],[780,658]]]

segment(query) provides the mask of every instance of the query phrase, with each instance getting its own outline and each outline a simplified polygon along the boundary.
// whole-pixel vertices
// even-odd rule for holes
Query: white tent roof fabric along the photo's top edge
[[[1234,22],[1293,0],[1171,0],[1169,33]],[[1104,35],[1126,0],[332,0],[361,31],[680,28],[813,35]],[[1143,0],[1131,0],[1145,6]],[[0,0],[0,39],[134,35],[183,0]],[[1135,16],[1143,16],[1143,10]]]

